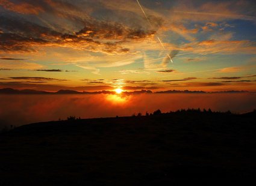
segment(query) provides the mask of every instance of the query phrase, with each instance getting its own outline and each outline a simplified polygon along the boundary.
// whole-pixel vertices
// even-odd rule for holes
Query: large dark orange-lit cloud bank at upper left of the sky
[[[102,52],[109,55],[130,52],[126,46],[143,40],[154,40],[155,31],[131,28],[117,22],[106,22],[87,17],[78,32],[55,31],[38,23],[1,16],[0,53],[37,52],[37,47],[66,47],[76,50]]]

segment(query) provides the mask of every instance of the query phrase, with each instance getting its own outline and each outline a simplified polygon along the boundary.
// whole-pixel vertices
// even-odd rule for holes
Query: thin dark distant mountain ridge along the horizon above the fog
[[[133,92],[122,92],[122,94],[125,95],[131,95],[131,94],[177,94],[177,93],[186,93],[186,94],[220,94],[220,93],[246,93],[248,91],[217,91],[217,92],[205,92],[205,91],[176,91],[176,90],[168,90],[168,91],[158,91],[158,92],[152,92],[150,90],[140,90],[140,91],[133,91]],[[255,93],[255,92],[251,92]],[[47,92],[47,91],[37,91],[34,89],[23,89],[23,90],[17,90],[13,88],[2,88],[0,89],[0,94],[116,94],[115,91],[95,91],[95,92],[79,92],[74,90],[59,90],[57,92]]]

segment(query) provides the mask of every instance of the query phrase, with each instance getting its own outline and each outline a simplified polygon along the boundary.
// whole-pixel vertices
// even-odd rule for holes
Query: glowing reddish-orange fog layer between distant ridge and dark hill
[[[0,95],[0,127],[66,119],[131,116],[187,108],[245,113],[255,109],[256,94]]]

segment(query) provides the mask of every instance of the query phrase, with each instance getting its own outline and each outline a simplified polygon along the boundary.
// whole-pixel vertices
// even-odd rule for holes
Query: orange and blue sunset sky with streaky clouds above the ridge
[[[255,1],[0,0],[0,88],[256,91],[255,33]]]

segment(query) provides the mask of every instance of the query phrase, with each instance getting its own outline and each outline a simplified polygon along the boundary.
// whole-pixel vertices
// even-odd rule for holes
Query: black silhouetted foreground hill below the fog
[[[255,112],[23,125],[0,134],[0,185],[164,185],[256,176]]]

